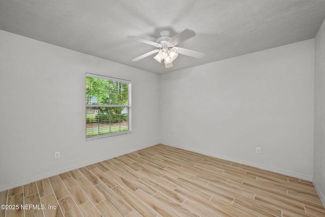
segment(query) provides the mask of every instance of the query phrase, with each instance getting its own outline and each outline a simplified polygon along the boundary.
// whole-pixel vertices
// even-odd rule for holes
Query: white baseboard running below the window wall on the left
[[[75,165],[75,166],[72,166],[72,167],[67,167],[67,168],[63,168],[63,169],[60,169],[60,170],[52,171],[52,172],[49,172],[49,173],[45,173],[45,174],[38,175],[38,176],[35,176],[35,177],[31,177],[31,178],[28,178],[28,179],[25,179],[25,180],[17,181],[17,182],[14,182],[14,183],[5,184],[5,185],[0,186],[0,192],[6,191],[6,190],[9,190],[9,189],[13,189],[13,188],[19,187],[19,186],[24,185],[24,184],[29,184],[29,183],[34,182],[34,181],[39,181],[39,180],[42,180],[44,178],[48,178],[48,177],[58,175],[58,174],[61,174],[61,173],[64,173],[64,172],[68,172],[68,171],[75,170],[75,169],[78,169],[78,168],[81,168],[81,167],[85,167],[85,166],[88,166],[88,165],[91,165],[91,164],[95,164],[95,163],[98,163],[98,162],[101,162],[101,161],[105,161],[105,160],[112,159],[112,158],[115,158],[115,157],[118,157],[118,156],[122,156],[123,154],[131,153],[133,151],[137,151],[137,150],[140,150],[140,149],[143,149],[143,148],[147,148],[147,147],[150,147],[150,146],[153,146],[153,145],[156,145],[156,144],[159,144],[159,143],[152,143],[152,144],[139,146],[139,147],[132,148],[132,149],[129,149],[129,150],[126,150],[126,151],[122,151],[122,152],[119,152],[119,153],[116,153],[116,154],[112,154],[110,156],[106,156],[106,157],[103,157],[103,158],[100,158],[100,159],[89,161],[89,162],[86,162],[86,163],[83,163],[83,164],[79,164],[79,165]]]

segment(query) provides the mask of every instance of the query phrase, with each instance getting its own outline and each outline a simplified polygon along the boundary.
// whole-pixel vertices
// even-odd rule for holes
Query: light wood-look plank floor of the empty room
[[[161,144],[0,192],[0,204],[19,205],[8,217],[325,216],[310,181]]]

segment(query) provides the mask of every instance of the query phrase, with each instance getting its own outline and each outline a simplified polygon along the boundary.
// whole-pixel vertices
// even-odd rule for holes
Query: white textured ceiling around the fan
[[[0,29],[154,73],[166,73],[315,37],[325,1],[296,0],[0,0]],[[178,47],[205,53],[179,55],[165,69],[152,56],[131,59],[155,41],[185,28],[196,36]]]

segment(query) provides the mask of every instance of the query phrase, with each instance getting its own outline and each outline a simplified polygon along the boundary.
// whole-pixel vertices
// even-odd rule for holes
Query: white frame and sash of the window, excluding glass
[[[100,79],[105,79],[109,81],[117,81],[117,82],[123,82],[127,84],[127,104],[126,105],[118,105],[118,104],[92,104],[90,100],[90,104],[87,104],[87,77],[92,77],[92,78],[100,78]],[[131,134],[132,133],[132,126],[131,126],[131,118],[132,118],[132,98],[131,98],[131,90],[132,88],[132,82],[129,80],[124,80],[124,79],[119,79],[119,78],[113,78],[113,77],[107,77],[107,76],[102,76],[102,75],[96,75],[96,74],[90,74],[86,73],[85,76],[85,123],[86,123],[86,141],[89,140],[94,140],[94,139],[101,139],[101,138],[107,138],[107,137],[112,137],[112,136],[119,136],[119,135],[124,135],[124,134]],[[110,90],[108,90],[110,91]],[[87,110],[89,108],[103,108],[103,107],[126,107],[127,108],[127,131],[120,131],[117,133],[107,133],[103,135],[96,135],[96,136],[87,136]],[[87,109],[88,108],[88,109]],[[100,127],[100,122],[98,122],[98,127]]]

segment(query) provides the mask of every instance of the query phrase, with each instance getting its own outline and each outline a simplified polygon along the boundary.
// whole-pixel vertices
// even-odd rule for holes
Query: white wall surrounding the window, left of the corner
[[[132,80],[132,134],[86,142],[86,72]],[[0,192],[159,143],[158,84],[157,74],[0,31]]]

